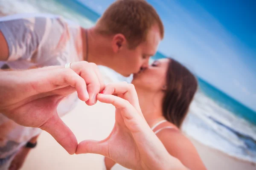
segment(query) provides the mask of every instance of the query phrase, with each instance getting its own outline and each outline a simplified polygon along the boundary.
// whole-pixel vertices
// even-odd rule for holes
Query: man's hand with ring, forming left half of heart
[[[58,116],[57,106],[75,91],[79,99],[93,105],[104,88],[98,68],[88,62],[73,62],[70,68],[0,71],[0,112],[20,125],[46,130],[73,154],[77,140]]]

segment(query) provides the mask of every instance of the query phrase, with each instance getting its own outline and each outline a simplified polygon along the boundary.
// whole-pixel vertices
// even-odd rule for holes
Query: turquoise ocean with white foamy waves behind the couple
[[[0,0],[2,16],[38,12],[61,14],[85,28],[93,26],[100,17],[77,0]],[[153,59],[165,57],[157,52]],[[200,77],[198,82],[199,90],[184,122],[183,132],[227,155],[256,163],[256,112]]]

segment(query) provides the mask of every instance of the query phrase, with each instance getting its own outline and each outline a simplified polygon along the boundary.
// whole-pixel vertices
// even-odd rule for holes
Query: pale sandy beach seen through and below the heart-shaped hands
[[[104,139],[114,124],[114,107],[98,102],[88,107],[79,102],[76,108],[63,117],[78,141]],[[194,139],[208,170],[255,170],[250,162],[232,158],[209,148]],[[96,154],[69,155],[48,133],[43,132],[38,146],[29,154],[22,170],[101,170],[103,157]]]

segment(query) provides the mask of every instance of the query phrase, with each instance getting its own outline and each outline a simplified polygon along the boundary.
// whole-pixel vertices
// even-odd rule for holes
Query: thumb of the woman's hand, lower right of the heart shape
[[[95,153],[108,157],[108,143],[105,140],[84,140],[78,144],[76,149],[76,154],[81,153]]]

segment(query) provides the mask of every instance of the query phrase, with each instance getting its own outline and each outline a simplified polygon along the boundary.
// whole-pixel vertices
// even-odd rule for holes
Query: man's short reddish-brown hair
[[[157,25],[163,39],[164,28],[157,11],[145,0],[116,0],[96,23],[100,34],[123,34],[130,48],[136,48]]]

